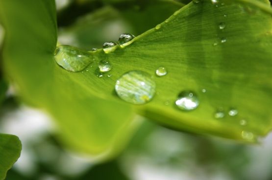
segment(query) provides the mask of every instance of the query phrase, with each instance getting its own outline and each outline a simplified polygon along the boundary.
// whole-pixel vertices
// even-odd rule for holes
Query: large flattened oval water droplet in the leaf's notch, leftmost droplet
[[[72,72],[85,69],[93,63],[92,55],[70,45],[60,45],[55,50],[56,63]]]

